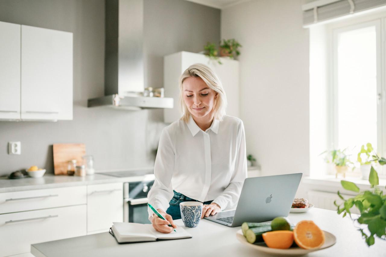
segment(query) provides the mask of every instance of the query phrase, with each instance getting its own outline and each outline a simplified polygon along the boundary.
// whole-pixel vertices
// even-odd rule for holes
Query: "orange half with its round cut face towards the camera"
[[[312,220],[302,220],[293,230],[297,245],[303,249],[320,248],[325,240],[324,232]]]

